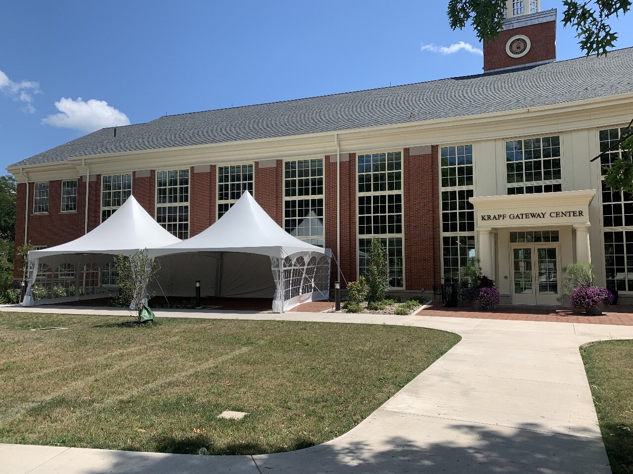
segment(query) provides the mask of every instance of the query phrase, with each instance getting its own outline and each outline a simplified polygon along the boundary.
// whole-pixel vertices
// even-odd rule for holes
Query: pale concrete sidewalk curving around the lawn
[[[632,326],[423,315],[156,315],[415,325],[463,339],[358,426],[320,446],[260,456],[187,456],[0,445],[0,473],[610,473],[578,348],[599,339],[633,339]]]

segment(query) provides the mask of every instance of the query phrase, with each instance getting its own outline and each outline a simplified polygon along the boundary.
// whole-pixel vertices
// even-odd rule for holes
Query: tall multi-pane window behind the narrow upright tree
[[[358,271],[373,237],[387,250],[389,286],[404,288],[402,152],[358,155]]]

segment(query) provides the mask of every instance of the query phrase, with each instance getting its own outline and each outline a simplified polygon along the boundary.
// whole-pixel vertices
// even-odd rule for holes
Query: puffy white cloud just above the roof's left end
[[[105,100],[77,100],[62,97],[55,102],[60,113],[49,115],[42,123],[60,128],[95,131],[104,127],[130,125],[130,119],[122,111],[108,105]]]

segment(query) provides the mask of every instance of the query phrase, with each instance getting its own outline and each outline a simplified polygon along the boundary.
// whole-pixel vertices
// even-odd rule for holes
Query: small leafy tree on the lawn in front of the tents
[[[137,318],[141,320],[141,308],[154,294],[147,293],[147,286],[156,278],[160,265],[149,257],[147,248],[139,250],[132,255],[116,255],[116,284],[119,287],[119,295],[116,303],[138,312]]]

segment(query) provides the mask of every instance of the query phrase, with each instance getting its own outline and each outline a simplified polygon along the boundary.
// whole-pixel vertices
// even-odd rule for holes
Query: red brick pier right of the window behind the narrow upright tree
[[[406,289],[430,290],[440,283],[437,147],[430,155],[404,149],[404,272]]]

